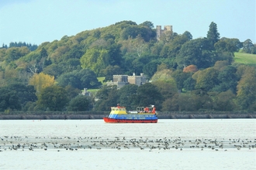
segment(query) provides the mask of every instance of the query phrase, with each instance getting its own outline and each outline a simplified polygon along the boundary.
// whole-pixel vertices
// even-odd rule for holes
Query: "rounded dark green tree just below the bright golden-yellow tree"
[[[40,93],[37,103],[45,109],[51,111],[61,111],[67,106],[67,92],[63,87],[46,87]]]

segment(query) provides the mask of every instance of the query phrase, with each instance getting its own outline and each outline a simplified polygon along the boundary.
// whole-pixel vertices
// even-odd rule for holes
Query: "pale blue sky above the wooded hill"
[[[256,43],[255,0],[0,0],[0,46],[40,45],[124,20],[172,26],[193,39],[215,22],[220,37]]]

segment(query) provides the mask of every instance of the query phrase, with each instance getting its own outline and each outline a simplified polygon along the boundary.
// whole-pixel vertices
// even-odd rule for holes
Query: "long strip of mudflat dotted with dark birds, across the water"
[[[196,138],[102,138],[102,137],[19,137],[0,136],[0,151],[78,151],[87,149],[140,149],[148,151],[158,150],[213,150],[229,151],[230,149],[244,150],[256,148],[255,139],[206,139]]]

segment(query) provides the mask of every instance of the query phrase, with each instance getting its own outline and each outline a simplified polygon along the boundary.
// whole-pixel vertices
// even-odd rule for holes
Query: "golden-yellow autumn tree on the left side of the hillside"
[[[54,76],[45,73],[34,74],[29,80],[29,85],[33,85],[36,89],[36,95],[41,93],[44,88],[54,85],[54,83]]]

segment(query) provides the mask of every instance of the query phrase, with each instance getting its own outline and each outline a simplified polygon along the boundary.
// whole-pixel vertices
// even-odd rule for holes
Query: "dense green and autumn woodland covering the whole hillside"
[[[247,39],[220,38],[211,22],[206,37],[164,32],[152,22],[116,22],[76,36],[3,44],[0,49],[0,111],[131,110],[154,104],[162,111],[256,110],[256,68],[234,62],[234,53],[256,53]],[[144,73],[149,83],[121,89],[97,77]],[[84,88],[99,89],[91,97]]]

